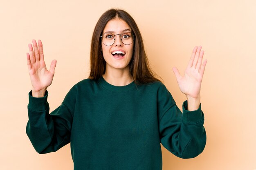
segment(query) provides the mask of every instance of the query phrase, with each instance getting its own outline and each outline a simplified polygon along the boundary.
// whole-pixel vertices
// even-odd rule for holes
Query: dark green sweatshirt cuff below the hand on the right
[[[203,118],[201,103],[199,105],[198,110],[189,111],[187,110],[188,101],[186,100],[185,102],[183,102],[182,109],[183,109],[182,120],[185,124],[195,124],[201,121]]]

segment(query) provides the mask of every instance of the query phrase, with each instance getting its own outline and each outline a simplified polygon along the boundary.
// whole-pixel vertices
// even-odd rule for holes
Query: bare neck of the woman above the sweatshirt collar
[[[111,70],[106,69],[105,74],[102,75],[103,78],[109,84],[113,86],[126,86],[133,82],[133,77],[130,75],[129,71]]]

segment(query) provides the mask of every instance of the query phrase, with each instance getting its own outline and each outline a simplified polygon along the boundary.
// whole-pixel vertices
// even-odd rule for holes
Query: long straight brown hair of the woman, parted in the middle
[[[89,79],[99,79],[106,71],[106,61],[104,60],[101,51],[100,36],[108,21],[114,18],[124,20],[131,27],[132,33],[135,34],[132,59],[129,63],[130,74],[132,75],[135,83],[160,82],[160,80],[155,77],[155,73],[149,66],[141,33],[135,20],[133,20],[129,13],[121,9],[109,9],[103,13],[94,28],[91,43],[91,72]]]

